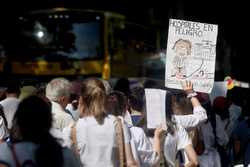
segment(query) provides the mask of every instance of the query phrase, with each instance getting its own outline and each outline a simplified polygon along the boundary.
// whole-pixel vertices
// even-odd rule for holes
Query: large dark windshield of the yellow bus
[[[100,16],[77,18],[66,14],[19,18],[9,55],[27,60],[102,59]]]

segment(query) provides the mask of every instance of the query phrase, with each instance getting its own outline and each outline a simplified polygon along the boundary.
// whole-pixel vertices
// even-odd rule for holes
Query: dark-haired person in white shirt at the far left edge
[[[0,101],[3,107],[3,111],[7,120],[8,129],[12,128],[12,120],[16,113],[16,109],[20,100],[18,96],[20,94],[20,88],[18,83],[10,83],[6,90],[6,98]]]

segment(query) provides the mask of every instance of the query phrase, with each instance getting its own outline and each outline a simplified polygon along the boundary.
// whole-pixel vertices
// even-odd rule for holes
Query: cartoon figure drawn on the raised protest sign
[[[175,56],[173,59],[173,69],[171,77],[177,79],[185,79],[186,74],[186,59],[191,55],[191,42],[189,40],[178,39],[173,47]]]

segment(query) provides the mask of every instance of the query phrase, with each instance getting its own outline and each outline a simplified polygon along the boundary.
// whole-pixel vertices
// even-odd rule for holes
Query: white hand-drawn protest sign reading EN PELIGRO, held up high
[[[217,25],[170,19],[165,86],[182,89],[190,80],[194,90],[210,93],[214,83]]]

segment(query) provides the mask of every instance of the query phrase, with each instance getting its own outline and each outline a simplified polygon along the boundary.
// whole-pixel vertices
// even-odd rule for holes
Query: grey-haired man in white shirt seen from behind
[[[71,83],[65,78],[55,78],[46,86],[46,96],[52,103],[53,128],[60,131],[74,123],[65,108],[70,100]]]

